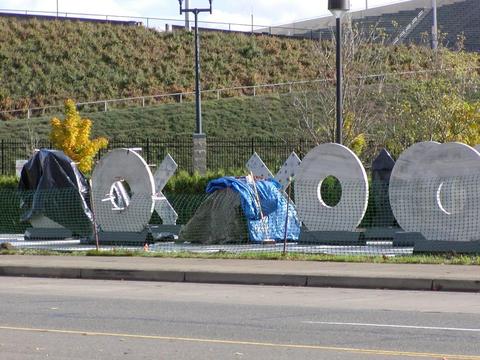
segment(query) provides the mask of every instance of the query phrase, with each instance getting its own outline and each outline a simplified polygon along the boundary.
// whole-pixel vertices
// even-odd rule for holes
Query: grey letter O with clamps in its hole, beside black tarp
[[[120,180],[131,191],[129,205],[116,208],[109,199]],[[133,150],[115,149],[102,157],[92,174],[95,218],[102,231],[141,232],[154,209],[155,183],[145,160]]]

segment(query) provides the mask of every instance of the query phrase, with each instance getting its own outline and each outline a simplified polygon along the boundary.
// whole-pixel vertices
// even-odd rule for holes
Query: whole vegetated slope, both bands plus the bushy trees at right
[[[399,153],[424,139],[457,139],[443,135],[455,130],[447,121],[452,113],[464,119],[458,109],[480,106],[470,106],[480,98],[479,54],[384,46],[346,34],[345,144],[357,145],[358,152],[370,157],[382,146]],[[192,91],[193,40],[184,31],[0,18],[0,110],[60,105],[66,98],[89,101]],[[232,33],[204,33],[201,41],[204,89],[334,78],[335,49],[329,42]],[[396,75],[366,76],[379,73]],[[238,95],[205,99],[204,130],[209,136],[297,135],[332,141],[334,81],[295,88],[291,94]],[[175,101],[109,112],[80,110],[94,120],[95,136],[191,134],[193,102]],[[1,122],[0,137],[30,143],[46,138],[52,115]],[[471,129],[478,126],[464,123]]]

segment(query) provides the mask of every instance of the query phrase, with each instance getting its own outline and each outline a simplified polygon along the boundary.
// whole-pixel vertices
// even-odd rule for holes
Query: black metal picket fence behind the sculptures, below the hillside
[[[209,170],[244,168],[254,152],[258,153],[272,171],[280,168],[292,151],[303,157],[315,146],[307,139],[279,138],[207,138],[207,168]],[[159,165],[167,154],[172,155],[180,170],[193,171],[192,136],[176,136],[170,138],[145,139],[112,139],[108,149],[102,150],[98,159],[106,151],[115,148],[141,148],[145,161]],[[48,140],[30,143],[24,140],[0,140],[0,174],[15,175],[16,160],[30,158],[34,149],[52,148]]]

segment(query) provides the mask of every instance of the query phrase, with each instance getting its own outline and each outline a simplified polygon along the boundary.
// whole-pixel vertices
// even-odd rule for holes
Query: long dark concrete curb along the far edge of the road
[[[0,276],[97,279],[127,281],[166,281],[213,284],[278,285],[307,287],[342,287],[359,289],[424,290],[480,292],[480,281],[465,279],[428,279],[400,277],[331,276],[302,274],[80,269],[45,266],[0,266]]]

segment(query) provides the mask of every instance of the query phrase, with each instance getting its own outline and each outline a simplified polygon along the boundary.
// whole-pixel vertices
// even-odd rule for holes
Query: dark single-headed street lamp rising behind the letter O
[[[342,143],[343,128],[343,103],[342,103],[342,16],[350,10],[350,0],[328,0],[328,10],[337,21],[337,126],[335,129],[335,142]]]

